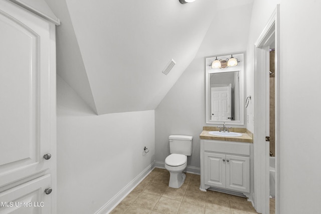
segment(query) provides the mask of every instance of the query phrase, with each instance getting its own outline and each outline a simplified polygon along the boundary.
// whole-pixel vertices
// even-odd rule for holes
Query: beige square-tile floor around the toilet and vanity
[[[169,180],[166,169],[153,169],[110,213],[257,213],[244,197],[201,191],[200,175],[186,173],[179,189],[169,187]]]

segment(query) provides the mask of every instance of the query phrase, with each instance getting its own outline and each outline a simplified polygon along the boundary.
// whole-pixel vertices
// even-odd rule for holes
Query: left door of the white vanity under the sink
[[[205,184],[225,188],[225,155],[205,152]]]

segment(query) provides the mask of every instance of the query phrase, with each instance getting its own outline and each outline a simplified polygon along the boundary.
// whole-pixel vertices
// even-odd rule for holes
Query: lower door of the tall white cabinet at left
[[[30,182],[0,193],[0,214],[4,213],[51,213],[50,175],[44,175]]]

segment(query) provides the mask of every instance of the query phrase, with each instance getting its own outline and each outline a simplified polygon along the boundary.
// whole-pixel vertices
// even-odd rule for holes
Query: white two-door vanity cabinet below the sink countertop
[[[250,144],[201,139],[201,187],[250,192]]]

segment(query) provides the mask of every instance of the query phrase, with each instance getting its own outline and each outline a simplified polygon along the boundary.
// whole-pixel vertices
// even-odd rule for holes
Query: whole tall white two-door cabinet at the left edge
[[[0,213],[56,213],[55,24],[0,0]]]

